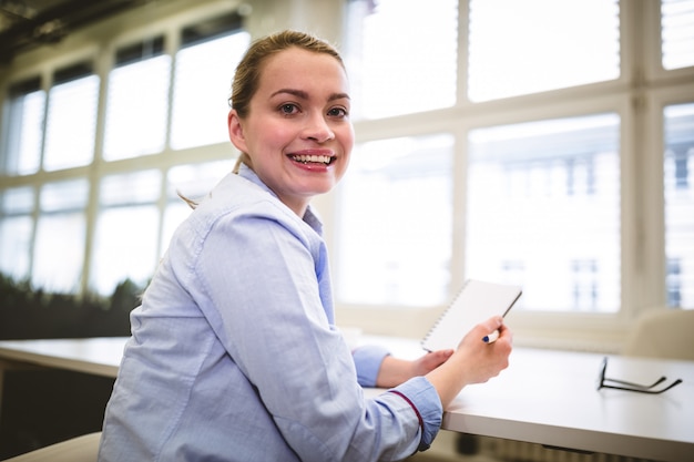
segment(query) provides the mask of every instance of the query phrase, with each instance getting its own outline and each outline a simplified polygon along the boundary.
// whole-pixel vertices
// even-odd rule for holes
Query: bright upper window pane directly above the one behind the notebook
[[[471,101],[564,89],[620,75],[616,0],[471,0]]]

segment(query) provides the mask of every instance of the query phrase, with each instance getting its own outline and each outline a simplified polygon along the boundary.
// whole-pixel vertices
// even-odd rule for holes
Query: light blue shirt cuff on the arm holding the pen
[[[427,378],[415,377],[389,391],[400,396],[412,407],[421,430],[417,449],[426,451],[438,434],[443,418],[443,407],[436,389]]]

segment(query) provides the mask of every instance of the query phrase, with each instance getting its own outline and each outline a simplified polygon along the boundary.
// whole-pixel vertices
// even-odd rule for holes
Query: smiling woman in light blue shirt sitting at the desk
[[[100,460],[365,462],[428,448],[462,387],[507,367],[509,330],[493,318],[415,361],[349,351],[309,206],[354,144],[343,61],[285,31],[249,48],[232,90],[239,163],[177,229],[131,316]],[[395,388],[365,399],[360,384]]]

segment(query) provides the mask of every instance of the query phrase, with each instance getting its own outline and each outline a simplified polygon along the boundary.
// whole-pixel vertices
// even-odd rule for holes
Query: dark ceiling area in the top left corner
[[[146,0],[0,0],[0,63]]]

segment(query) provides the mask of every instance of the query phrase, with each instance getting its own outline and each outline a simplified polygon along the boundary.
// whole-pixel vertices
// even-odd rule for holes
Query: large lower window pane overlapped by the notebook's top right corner
[[[619,122],[470,132],[468,277],[523,286],[527,309],[619,310]]]

